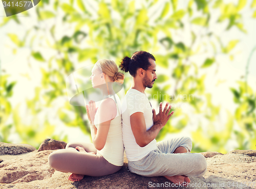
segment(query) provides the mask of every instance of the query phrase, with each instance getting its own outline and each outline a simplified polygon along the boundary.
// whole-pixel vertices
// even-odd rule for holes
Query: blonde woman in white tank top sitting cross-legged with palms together
[[[86,106],[93,144],[68,143],[66,149],[49,155],[50,166],[71,173],[71,181],[80,181],[84,175],[109,175],[123,165],[121,102],[112,85],[123,83],[124,74],[118,72],[114,61],[99,60],[90,79],[93,88],[100,89],[103,97],[99,107],[96,108],[92,100]]]

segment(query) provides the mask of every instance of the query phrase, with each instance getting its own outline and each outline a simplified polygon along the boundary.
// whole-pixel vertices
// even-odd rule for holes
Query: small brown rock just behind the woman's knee
[[[64,141],[56,141],[54,139],[46,139],[42,142],[38,148],[39,151],[43,150],[57,150],[57,149],[65,149],[67,143]]]

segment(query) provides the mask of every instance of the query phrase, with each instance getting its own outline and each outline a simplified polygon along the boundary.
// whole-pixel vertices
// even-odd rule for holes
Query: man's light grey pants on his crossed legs
[[[184,147],[187,153],[173,153],[176,148]],[[138,161],[129,161],[132,173],[142,176],[185,175],[197,177],[205,174],[207,164],[200,153],[189,153],[192,149],[190,138],[175,138],[157,143],[157,149]]]

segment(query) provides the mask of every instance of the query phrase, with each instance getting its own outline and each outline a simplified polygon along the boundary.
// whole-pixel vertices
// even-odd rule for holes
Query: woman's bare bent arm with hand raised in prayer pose
[[[108,137],[110,122],[116,116],[116,104],[113,99],[104,99],[99,106],[98,110],[99,125],[98,129],[95,127],[93,122],[91,122],[91,136],[92,141],[97,150],[101,150],[106,143],[106,138]]]

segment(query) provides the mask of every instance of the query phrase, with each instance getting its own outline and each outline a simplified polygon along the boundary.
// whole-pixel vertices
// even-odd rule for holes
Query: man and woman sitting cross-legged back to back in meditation
[[[114,61],[95,63],[90,79],[93,88],[100,89],[103,100],[98,107],[94,101],[87,105],[93,143],[68,143],[66,149],[51,153],[52,168],[71,173],[72,181],[84,175],[109,175],[122,168],[125,148],[129,170],[138,175],[164,176],[175,184],[187,184],[188,177],[205,174],[206,160],[202,154],[189,153],[189,138],[156,142],[157,134],[174,112],[169,114],[171,106],[161,102],[156,114],[145,95],[146,87],[152,88],[157,79],[155,61],[146,51],[122,59],[119,67],[133,78],[122,105],[112,85],[123,83],[124,74],[118,72]]]

